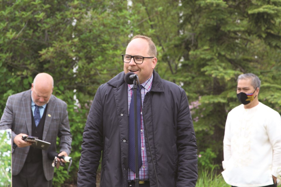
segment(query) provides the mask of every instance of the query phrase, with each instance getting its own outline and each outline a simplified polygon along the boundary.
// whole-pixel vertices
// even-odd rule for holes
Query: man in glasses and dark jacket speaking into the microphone
[[[135,36],[122,55],[124,71],[97,89],[83,133],[78,187],[96,186],[101,155],[100,187],[195,186],[197,146],[187,96],[155,72],[156,54],[149,37]]]

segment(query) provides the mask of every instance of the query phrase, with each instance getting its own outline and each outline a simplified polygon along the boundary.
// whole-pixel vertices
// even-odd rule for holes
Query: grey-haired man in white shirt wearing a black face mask
[[[258,101],[256,75],[239,75],[237,82],[242,104],[227,116],[222,176],[232,187],[276,187],[281,183],[280,114]]]

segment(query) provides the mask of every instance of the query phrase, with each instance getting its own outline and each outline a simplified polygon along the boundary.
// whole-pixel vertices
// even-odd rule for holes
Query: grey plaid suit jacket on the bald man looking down
[[[51,96],[46,113],[43,141],[51,143],[48,150],[42,150],[43,169],[46,179],[54,177],[52,161],[48,159],[48,151],[56,151],[56,138],[60,138],[60,150],[68,155],[71,151],[72,136],[70,133],[67,105],[64,101]],[[31,90],[23,91],[8,97],[4,113],[0,120],[0,129],[12,129],[13,139],[17,134],[31,136],[32,130]],[[17,175],[23,168],[30,146],[12,149],[12,175]],[[36,172],[36,171],[35,171]]]

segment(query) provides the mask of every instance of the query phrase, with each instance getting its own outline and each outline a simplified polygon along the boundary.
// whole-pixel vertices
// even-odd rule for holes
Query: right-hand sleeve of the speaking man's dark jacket
[[[181,92],[177,118],[177,187],[194,187],[198,178],[197,145],[186,93]]]

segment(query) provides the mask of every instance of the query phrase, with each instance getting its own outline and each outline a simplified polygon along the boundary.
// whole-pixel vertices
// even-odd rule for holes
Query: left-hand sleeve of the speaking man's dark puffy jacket
[[[77,187],[96,187],[97,169],[103,148],[102,113],[98,88],[83,132]]]

